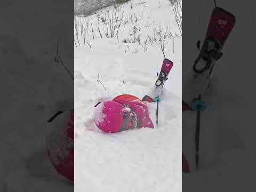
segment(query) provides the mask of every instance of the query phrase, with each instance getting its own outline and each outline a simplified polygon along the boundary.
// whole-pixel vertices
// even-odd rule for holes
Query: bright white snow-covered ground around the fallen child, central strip
[[[105,13],[99,11],[103,38],[98,14],[75,18],[75,191],[181,191],[182,47],[172,6],[167,0],[132,1],[132,9],[130,2],[122,5],[119,19],[125,24],[118,38],[106,38],[101,24]],[[95,104],[119,94],[142,98],[154,86],[164,56],[157,40],[150,44],[148,37],[156,37],[159,26],[169,26],[167,32],[174,36],[164,51],[174,66],[159,103],[158,127],[103,133],[93,121]],[[149,111],[155,122],[155,104]]]

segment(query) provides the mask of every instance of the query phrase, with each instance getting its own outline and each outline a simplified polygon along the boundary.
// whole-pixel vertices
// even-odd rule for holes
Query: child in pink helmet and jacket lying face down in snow
[[[130,94],[119,95],[111,101],[96,106],[94,122],[100,130],[108,133],[120,132],[134,127],[154,128],[145,101],[154,102],[153,99],[142,101]],[[100,109],[97,109],[98,107]]]

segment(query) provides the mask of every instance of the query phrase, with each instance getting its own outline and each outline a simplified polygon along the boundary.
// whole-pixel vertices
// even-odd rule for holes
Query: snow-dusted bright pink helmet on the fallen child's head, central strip
[[[129,129],[131,114],[120,103],[106,101],[95,107],[94,122],[100,130],[115,133]]]

